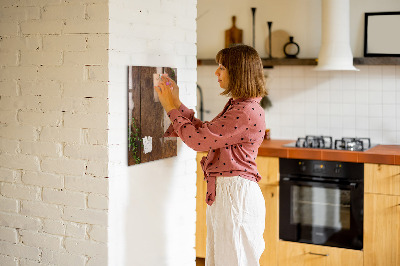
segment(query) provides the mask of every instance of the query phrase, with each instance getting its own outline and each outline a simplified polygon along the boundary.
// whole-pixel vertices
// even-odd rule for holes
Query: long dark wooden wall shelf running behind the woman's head
[[[261,58],[264,68],[274,66],[316,66],[316,58]],[[356,57],[355,65],[400,65],[400,57]],[[198,66],[217,65],[214,59],[198,59]]]

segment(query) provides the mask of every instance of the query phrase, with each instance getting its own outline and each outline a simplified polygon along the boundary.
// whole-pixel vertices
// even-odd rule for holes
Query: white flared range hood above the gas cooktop
[[[350,0],[322,1],[321,49],[314,70],[353,70],[350,48]]]

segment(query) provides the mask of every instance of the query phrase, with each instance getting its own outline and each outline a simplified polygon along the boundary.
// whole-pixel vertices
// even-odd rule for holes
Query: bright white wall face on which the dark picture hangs
[[[109,265],[195,265],[195,152],[128,167],[127,67],[176,67],[196,105],[196,0],[110,0]]]

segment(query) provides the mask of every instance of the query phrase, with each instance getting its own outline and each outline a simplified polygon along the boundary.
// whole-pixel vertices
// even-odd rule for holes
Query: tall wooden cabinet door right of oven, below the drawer
[[[400,265],[400,196],[365,194],[365,266]]]

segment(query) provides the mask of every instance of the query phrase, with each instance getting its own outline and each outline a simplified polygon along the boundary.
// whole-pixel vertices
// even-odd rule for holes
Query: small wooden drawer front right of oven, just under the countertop
[[[364,191],[400,196],[400,165],[364,164]]]

